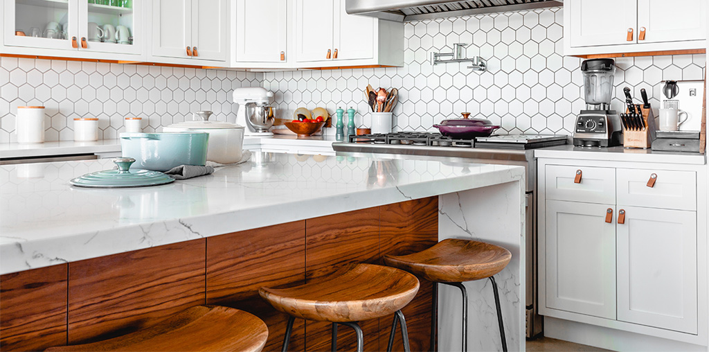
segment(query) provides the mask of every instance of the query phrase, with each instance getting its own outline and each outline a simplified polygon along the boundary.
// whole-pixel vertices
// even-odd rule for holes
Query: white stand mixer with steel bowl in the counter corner
[[[239,104],[236,123],[246,126],[245,136],[273,136],[268,129],[275,121],[274,109],[269,106],[273,92],[262,87],[234,89],[234,102]]]

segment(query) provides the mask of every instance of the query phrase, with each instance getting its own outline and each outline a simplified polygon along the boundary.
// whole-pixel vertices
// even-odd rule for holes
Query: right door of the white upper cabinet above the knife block
[[[638,43],[703,40],[705,16],[705,0],[638,0],[637,31],[646,31]]]

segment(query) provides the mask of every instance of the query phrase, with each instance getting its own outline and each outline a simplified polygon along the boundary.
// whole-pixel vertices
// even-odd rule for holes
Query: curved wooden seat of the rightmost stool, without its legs
[[[409,255],[384,255],[384,263],[433,282],[486,279],[503,270],[512,253],[490,243],[449,238]]]

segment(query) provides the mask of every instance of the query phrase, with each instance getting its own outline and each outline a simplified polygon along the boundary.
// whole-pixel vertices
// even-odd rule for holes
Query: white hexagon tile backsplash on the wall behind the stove
[[[554,7],[406,23],[403,67],[267,72],[264,87],[286,111],[352,106],[357,126],[370,126],[363,92],[369,83],[399,89],[398,131],[437,131],[433,123],[469,111],[508,133],[570,135],[585,106],[584,79],[581,59],[562,55],[563,22],[562,9]],[[487,60],[488,72],[472,72],[467,63],[432,66],[430,53],[450,53],[453,43],[472,43],[467,56]],[[628,57],[616,64],[613,108],[624,109],[626,85],[638,101],[640,88],[647,89],[657,107],[660,81],[703,79],[705,55]]]

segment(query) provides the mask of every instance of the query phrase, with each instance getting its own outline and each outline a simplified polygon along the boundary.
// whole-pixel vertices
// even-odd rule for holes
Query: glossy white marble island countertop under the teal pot
[[[111,160],[0,166],[0,274],[486,187],[523,167],[257,153],[169,185],[84,189]]]

